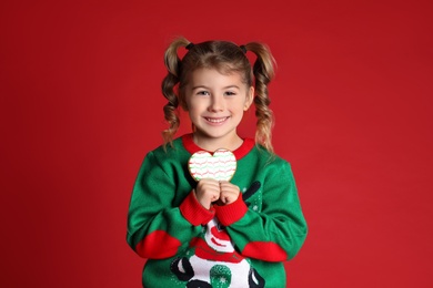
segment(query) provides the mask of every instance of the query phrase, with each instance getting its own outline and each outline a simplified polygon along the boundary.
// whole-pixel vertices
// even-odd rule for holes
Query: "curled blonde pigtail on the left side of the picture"
[[[175,93],[177,84],[180,80],[182,61],[178,55],[178,49],[180,47],[187,47],[190,42],[184,38],[175,39],[167,49],[164,54],[164,64],[168,70],[168,74],[162,80],[161,90],[164,97],[169,101],[164,107],[164,119],[169,124],[169,127],[162,132],[164,140],[164,146],[169,143],[172,145],[174,134],[180,126],[179,117],[179,96]]]

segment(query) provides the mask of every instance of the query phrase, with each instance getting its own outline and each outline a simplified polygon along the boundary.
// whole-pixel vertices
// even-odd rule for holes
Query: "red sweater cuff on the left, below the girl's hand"
[[[179,208],[183,217],[194,226],[208,224],[215,215],[213,208],[208,210],[197,200],[194,192],[187,196]]]

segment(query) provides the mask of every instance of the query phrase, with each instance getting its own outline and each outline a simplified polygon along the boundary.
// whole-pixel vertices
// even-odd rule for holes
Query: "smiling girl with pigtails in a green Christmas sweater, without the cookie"
[[[183,59],[178,50],[187,48]],[[251,65],[245,53],[256,60]],[[129,207],[128,244],[147,258],[143,287],[285,287],[283,261],[306,236],[290,164],[273,153],[266,85],[274,61],[266,45],[175,39],[165,51],[162,93],[169,128],[147,154]],[[255,105],[255,140],[238,135]],[[178,109],[192,133],[174,138]],[[195,178],[191,156],[231,151],[230,179]]]

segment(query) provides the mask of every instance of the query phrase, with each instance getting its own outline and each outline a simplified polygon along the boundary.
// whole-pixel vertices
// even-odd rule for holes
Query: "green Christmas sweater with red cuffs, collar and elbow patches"
[[[127,240],[147,258],[145,288],[285,287],[283,261],[306,236],[290,164],[245,138],[233,154],[240,197],[208,210],[188,169],[192,134],[149,152],[132,192]]]

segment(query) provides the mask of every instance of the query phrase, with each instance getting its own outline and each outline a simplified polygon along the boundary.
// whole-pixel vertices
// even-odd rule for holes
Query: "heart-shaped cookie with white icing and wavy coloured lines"
[[[192,154],[188,169],[195,181],[213,178],[230,181],[236,171],[236,157],[229,150],[216,150],[213,155],[205,151]]]

